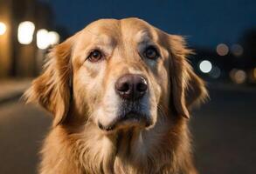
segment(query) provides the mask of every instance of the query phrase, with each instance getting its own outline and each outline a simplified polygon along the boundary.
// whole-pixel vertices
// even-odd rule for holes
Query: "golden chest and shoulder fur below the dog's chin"
[[[190,164],[190,152],[187,151],[189,147],[183,145],[176,147],[176,144],[188,144],[188,142],[177,143],[177,141],[186,141],[186,138],[180,134],[179,138],[172,138],[171,142],[170,137],[173,136],[171,133],[163,134],[159,131],[165,130],[160,128],[156,130],[120,131],[114,136],[107,137],[99,132],[95,133],[99,130],[95,130],[90,125],[80,133],[73,134],[66,134],[65,129],[55,128],[46,139],[47,146],[43,148],[40,171],[47,174],[183,173],[181,171],[188,166],[184,166],[183,169],[182,165],[187,162]],[[58,149],[57,146],[52,146],[54,144],[58,144]],[[52,156],[49,157],[47,154]],[[179,160],[176,160],[177,156]],[[44,169],[51,171],[44,172]]]

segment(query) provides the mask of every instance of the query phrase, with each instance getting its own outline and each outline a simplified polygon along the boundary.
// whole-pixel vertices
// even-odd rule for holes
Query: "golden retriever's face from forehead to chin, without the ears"
[[[154,124],[160,97],[169,93],[169,54],[157,31],[138,20],[100,20],[79,35],[73,91],[80,113],[106,131]]]

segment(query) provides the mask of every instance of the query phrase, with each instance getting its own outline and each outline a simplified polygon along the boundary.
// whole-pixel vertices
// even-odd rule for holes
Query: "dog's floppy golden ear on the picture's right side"
[[[183,37],[169,35],[171,99],[177,115],[189,118],[189,110],[208,97],[204,81],[193,72],[186,57],[192,51],[186,48]]]

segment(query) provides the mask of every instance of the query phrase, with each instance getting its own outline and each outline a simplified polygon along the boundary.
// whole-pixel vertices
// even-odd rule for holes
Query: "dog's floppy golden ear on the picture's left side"
[[[50,50],[44,72],[24,93],[27,103],[36,102],[54,116],[53,126],[63,122],[69,110],[72,80],[73,37]]]

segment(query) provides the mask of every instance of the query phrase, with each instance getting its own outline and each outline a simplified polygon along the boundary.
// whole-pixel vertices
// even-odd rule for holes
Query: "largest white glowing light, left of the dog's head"
[[[30,21],[19,23],[17,28],[17,40],[21,44],[30,44],[33,40],[35,24]]]

